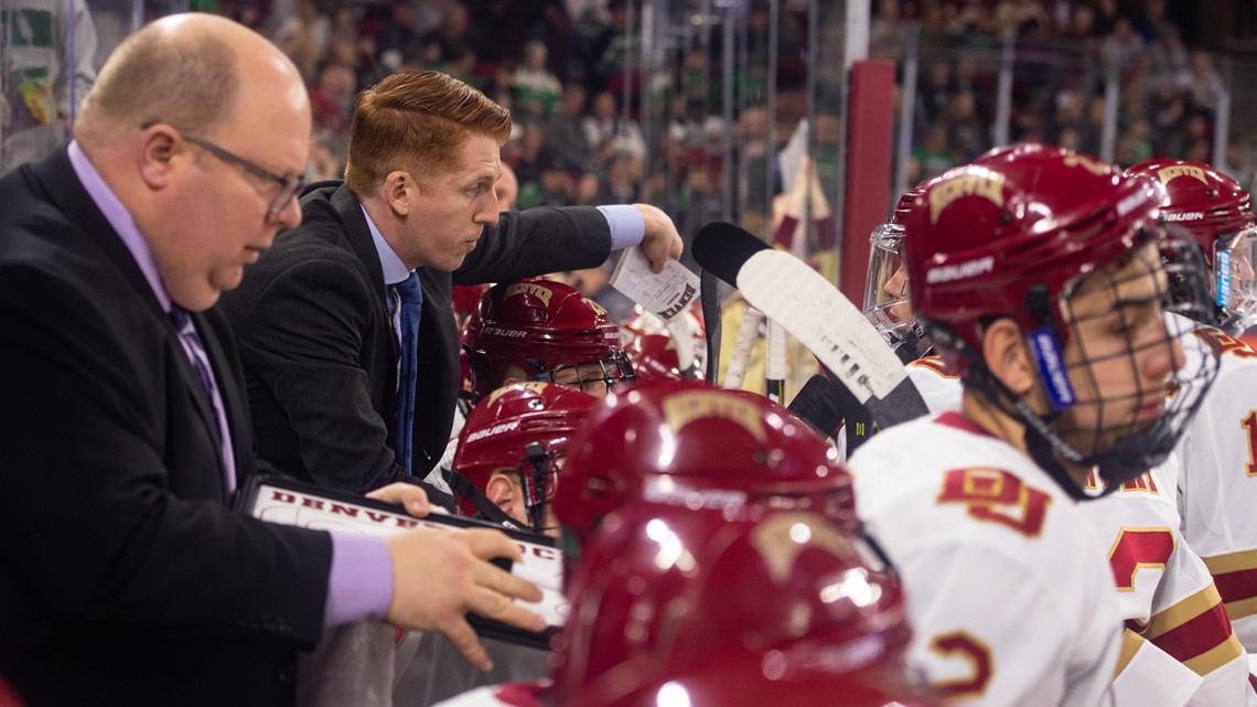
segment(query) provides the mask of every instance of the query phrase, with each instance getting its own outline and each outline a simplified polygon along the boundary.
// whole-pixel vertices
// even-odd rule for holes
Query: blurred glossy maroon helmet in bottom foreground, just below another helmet
[[[901,684],[904,599],[859,543],[815,513],[730,520],[631,502],[569,579],[572,610],[553,643],[556,702],[630,704],[719,667],[737,667],[760,692],[861,672]]]

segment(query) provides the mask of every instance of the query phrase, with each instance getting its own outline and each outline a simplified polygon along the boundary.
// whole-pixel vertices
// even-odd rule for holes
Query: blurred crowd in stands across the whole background
[[[781,4],[777,148],[806,109],[806,5]],[[719,47],[680,52],[671,65],[655,69],[665,78],[637,75],[631,64],[641,57],[634,55],[636,39],[626,26],[640,26],[639,6],[636,0],[236,0],[222,11],[272,36],[304,73],[316,121],[312,177],[339,175],[357,91],[400,68],[435,68],[510,107],[515,128],[503,159],[518,174],[520,208],[646,200],[667,209],[681,233],[691,231],[719,218],[727,200],[720,146],[728,132],[742,175],[732,199],[739,214],[767,219],[764,180],[781,191],[779,174],[754,161],[764,152],[754,136],[766,120],[754,106],[763,104],[772,50],[768,4],[748,4],[740,114],[728,127],[720,117]],[[1013,39],[1017,57],[1009,141],[1101,155],[1105,79],[1114,65],[1116,164],[1210,161],[1226,87],[1214,54],[1189,47],[1175,19],[1166,0],[879,0],[871,55],[895,59],[901,83],[909,45],[919,49],[909,180],[941,174],[994,146],[1004,38]],[[642,112],[644,84],[666,86],[660,94],[667,98],[651,118]],[[904,88],[897,91],[901,97]],[[826,117],[836,116],[820,116]],[[841,123],[831,122],[841,135]],[[1257,161],[1249,153],[1257,150],[1246,146],[1257,145],[1257,136],[1239,133],[1234,123],[1231,135],[1234,148],[1219,167],[1247,184],[1249,162]],[[825,150],[816,155],[828,189],[832,160]],[[760,176],[750,179],[755,171]]]

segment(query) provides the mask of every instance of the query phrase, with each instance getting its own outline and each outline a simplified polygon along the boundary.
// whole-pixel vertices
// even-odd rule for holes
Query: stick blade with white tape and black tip
[[[928,414],[877,330],[807,263],[727,223],[699,230],[694,258],[722,279],[733,277],[747,302],[806,346],[880,426]]]

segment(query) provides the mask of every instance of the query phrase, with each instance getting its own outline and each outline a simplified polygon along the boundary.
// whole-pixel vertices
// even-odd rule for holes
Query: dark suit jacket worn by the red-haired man
[[[302,199],[302,225],[222,299],[240,342],[258,454],[316,483],[366,492],[405,481],[393,458],[397,351],[383,272],[362,206],[338,182]],[[451,277],[421,268],[412,472],[441,458],[459,390],[458,284],[595,267],[611,250],[597,209],[529,209],[488,226]]]

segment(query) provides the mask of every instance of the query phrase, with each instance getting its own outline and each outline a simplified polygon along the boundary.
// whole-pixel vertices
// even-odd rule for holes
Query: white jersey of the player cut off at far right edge
[[[1236,635],[1257,652],[1257,351],[1212,328],[1218,380],[1179,443],[1183,536],[1204,560]]]

